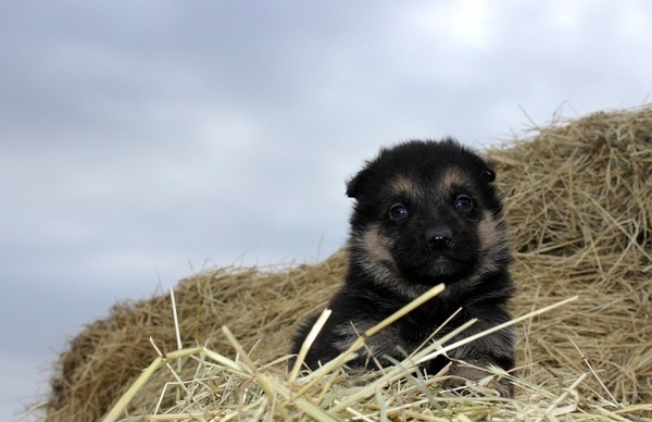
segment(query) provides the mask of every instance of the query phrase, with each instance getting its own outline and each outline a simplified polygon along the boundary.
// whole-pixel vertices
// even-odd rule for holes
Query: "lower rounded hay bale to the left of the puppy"
[[[287,353],[298,319],[323,308],[339,285],[344,264],[343,255],[336,253],[316,265],[221,268],[180,281],[175,299],[183,346],[206,344],[233,355],[233,346],[213,335],[226,324],[254,359]],[[109,318],[87,325],[59,359],[46,420],[97,421],[156,357],[149,337],[163,352],[177,349],[167,294],[118,303]],[[263,342],[256,346],[259,339]],[[188,365],[184,375],[191,371]],[[160,375],[134,400],[135,409],[152,405],[152,397],[170,381]],[[174,397],[163,405],[173,402]]]

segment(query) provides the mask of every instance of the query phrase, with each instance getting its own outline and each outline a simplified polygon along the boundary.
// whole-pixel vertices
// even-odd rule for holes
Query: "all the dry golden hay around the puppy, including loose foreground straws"
[[[338,252],[315,265],[184,280],[178,324],[167,294],[115,306],[61,355],[46,420],[95,421],[121,397],[133,420],[651,417],[652,108],[553,122],[487,156],[515,248],[512,312],[579,296],[518,323],[516,399],[454,397],[440,390],[446,373],[422,378],[398,367],[362,375],[366,383],[338,371],[288,381],[275,360],[339,285]]]

